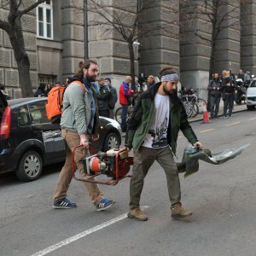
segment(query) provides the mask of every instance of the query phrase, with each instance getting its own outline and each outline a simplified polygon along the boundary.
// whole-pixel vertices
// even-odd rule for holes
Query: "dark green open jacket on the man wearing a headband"
[[[154,84],[149,90],[144,92],[131,115],[131,119],[127,123],[127,131],[125,136],[125,146],[138,150],[146,137],[151,119],[154,117],[154,96],[160,87],[160,83]],[[172,152],[176,154],[178,131],[181,130],[183,135],[188,139],[189,143],[196,143],[197,137],[195,132],[189,125],[188,117],[183,108],[183,103],[177,97],[176,93],[170,96],[170,117],[167,131],[167,140],[172,147]]]

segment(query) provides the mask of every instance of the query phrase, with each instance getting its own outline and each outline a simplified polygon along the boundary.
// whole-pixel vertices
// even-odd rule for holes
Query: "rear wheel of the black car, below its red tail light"
[[[41,156],[36,151],[27,151],[22,155],[16,176],[25,182],[36,180],[42,172],[43,162]]]

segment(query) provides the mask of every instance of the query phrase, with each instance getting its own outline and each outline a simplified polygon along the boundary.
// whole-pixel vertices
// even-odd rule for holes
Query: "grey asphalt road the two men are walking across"
[[[60,165],[44,176],[20,183],[13,174],[0,176],[0,255],[256,255],[256,112],[234,113],[232,119],[191,125],[205,148],[217,153],[250,143],[245,152],[223,165],[200,162],[200,171],[180,175],[186,220],[171,218],[166,177],[157,163],[145,179],[141,205],[147,222],[126,218],[129,179],[102,186],[116,204],[96,212],[81,183],[73,181],[69,199],[79,207],[52,209]],[[177,161],[186,139],[180,134]]]

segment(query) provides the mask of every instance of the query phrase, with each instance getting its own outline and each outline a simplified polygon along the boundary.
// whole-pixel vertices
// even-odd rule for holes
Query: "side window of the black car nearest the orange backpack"
[[[49,123],[46,116],[45,102],[35,102],[28,106],[32,118],[32,124]]]

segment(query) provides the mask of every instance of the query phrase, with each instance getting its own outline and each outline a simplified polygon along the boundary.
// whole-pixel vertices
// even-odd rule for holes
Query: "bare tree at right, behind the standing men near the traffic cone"
[[[237,29],[241,26],[240,9],[245,1],[198,0],[195,1],[193,7],[188,6],[191,1],[182,0],[180,2],[180,14],[183,16],[183,20],[187,20],[186,26],[193,24],[193,20],[196,19],[205,20],[211,26],[212,32],[209,34],[198,29],[194,33],[197,38],[201,38],[207,45],[211,46],[209,78],[212,79],[219,35],[228,28]]]

